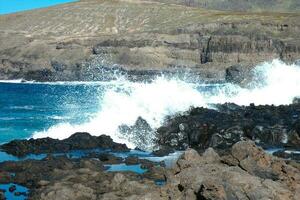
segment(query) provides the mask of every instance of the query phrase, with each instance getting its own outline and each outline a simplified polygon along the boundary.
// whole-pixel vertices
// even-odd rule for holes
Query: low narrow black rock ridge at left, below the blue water
[[[128,151],[125,144],[118,144],[106,135],[91,136],[89,133],[75,133],[64,140],[52,138],[13,140],[0,147],[3,151],[15,155],[25,156],[34,153],[57,153],[70,150],[105,148],[115,151]]]

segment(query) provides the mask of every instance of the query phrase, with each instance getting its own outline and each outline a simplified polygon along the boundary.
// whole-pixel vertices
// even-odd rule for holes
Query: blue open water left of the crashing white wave
[[[59,123],[83,123],[99,109],[101,86],[0,83],[0,143]]]

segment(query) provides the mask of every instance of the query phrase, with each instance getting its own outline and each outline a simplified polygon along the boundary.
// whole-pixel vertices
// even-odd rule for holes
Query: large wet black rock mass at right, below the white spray
[[[173,117],[157,130],[157,144],[176,150],[192,147],[228,149],[238,141],[253,140],[268,148],[300,148],[300,105],[212,105],[193,108]]]

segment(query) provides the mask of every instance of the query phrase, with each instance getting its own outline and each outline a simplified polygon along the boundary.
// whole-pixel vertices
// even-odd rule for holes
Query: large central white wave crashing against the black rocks
[[[134,147],[134,141],[127,141],[119,134],[120,125],[133,125],[141,116],[151,127],[157,128],[165,116],[185,111],[190,106],[205,104],[195,85],[164,78],[152,83],[120,81],[105,91],[100,103],[101,110],[89,122],[80,125],[58,124],[34,133],[33,137],[63,139],[75,132],[86,131],[93,135],[108,134],[114,141]]]

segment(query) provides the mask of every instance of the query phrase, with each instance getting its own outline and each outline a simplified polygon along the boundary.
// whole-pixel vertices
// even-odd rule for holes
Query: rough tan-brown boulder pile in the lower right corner
[[[178,164],[189,163],[180,167],[169,175],[166,191],[168,197],[174,199],[297,199],[300,187],[299,170],[288,166],[282,160],[267,155],[253,142],[238,142],[232,147],[232,154],[244,160],[252,159],[256,169],[261,167],[260,173],[251,167],[241,168],[224,162],[215,162],[205,156],[181,157]],[[209,150],[208,152],[212,152]],[[208,154],[208,152],[206,154]],[[189,154],[189,153],[188,153]],[[215,154],[215,153],[213,153]],[[186,160],[187,159],[187,160]],[[245,163],[244,163],[245,164]],[[270,165],[269,165],[270,164]],[[246,165],[244,165],[246,166]],[[264,166],[264,167],[263,167]],[[271,169],[269,169],[269,167]],[[278,175],[280,179],[272,180],[261,178],[262,173],[268,174],[269,170]]]

